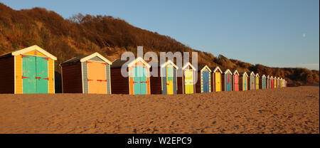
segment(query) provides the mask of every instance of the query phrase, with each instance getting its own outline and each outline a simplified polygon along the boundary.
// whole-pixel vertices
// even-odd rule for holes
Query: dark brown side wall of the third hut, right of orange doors
[[[129,78],[123,77],[121,68],[111,69],[112,94],[129,94]]]

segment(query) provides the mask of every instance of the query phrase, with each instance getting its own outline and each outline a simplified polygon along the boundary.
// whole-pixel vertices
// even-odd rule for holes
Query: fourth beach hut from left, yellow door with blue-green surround
[[[150,63],[149,63],[150,64]],[[150,64],[152,65],[152,64]],[[159,75],[151,75],[150,85],[151,94],[164,94],[173,95],[177,94],[177,72],[178,67],[171,60],[159,65],[158,67],[152,67],[151,71],[157,68]]]

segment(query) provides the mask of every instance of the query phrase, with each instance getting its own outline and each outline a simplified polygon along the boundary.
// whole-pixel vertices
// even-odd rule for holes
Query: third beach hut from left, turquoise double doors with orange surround
[[[150,67],[141,57],[132,61],[114,60],[110,68],[112,93],[150,95]]]

